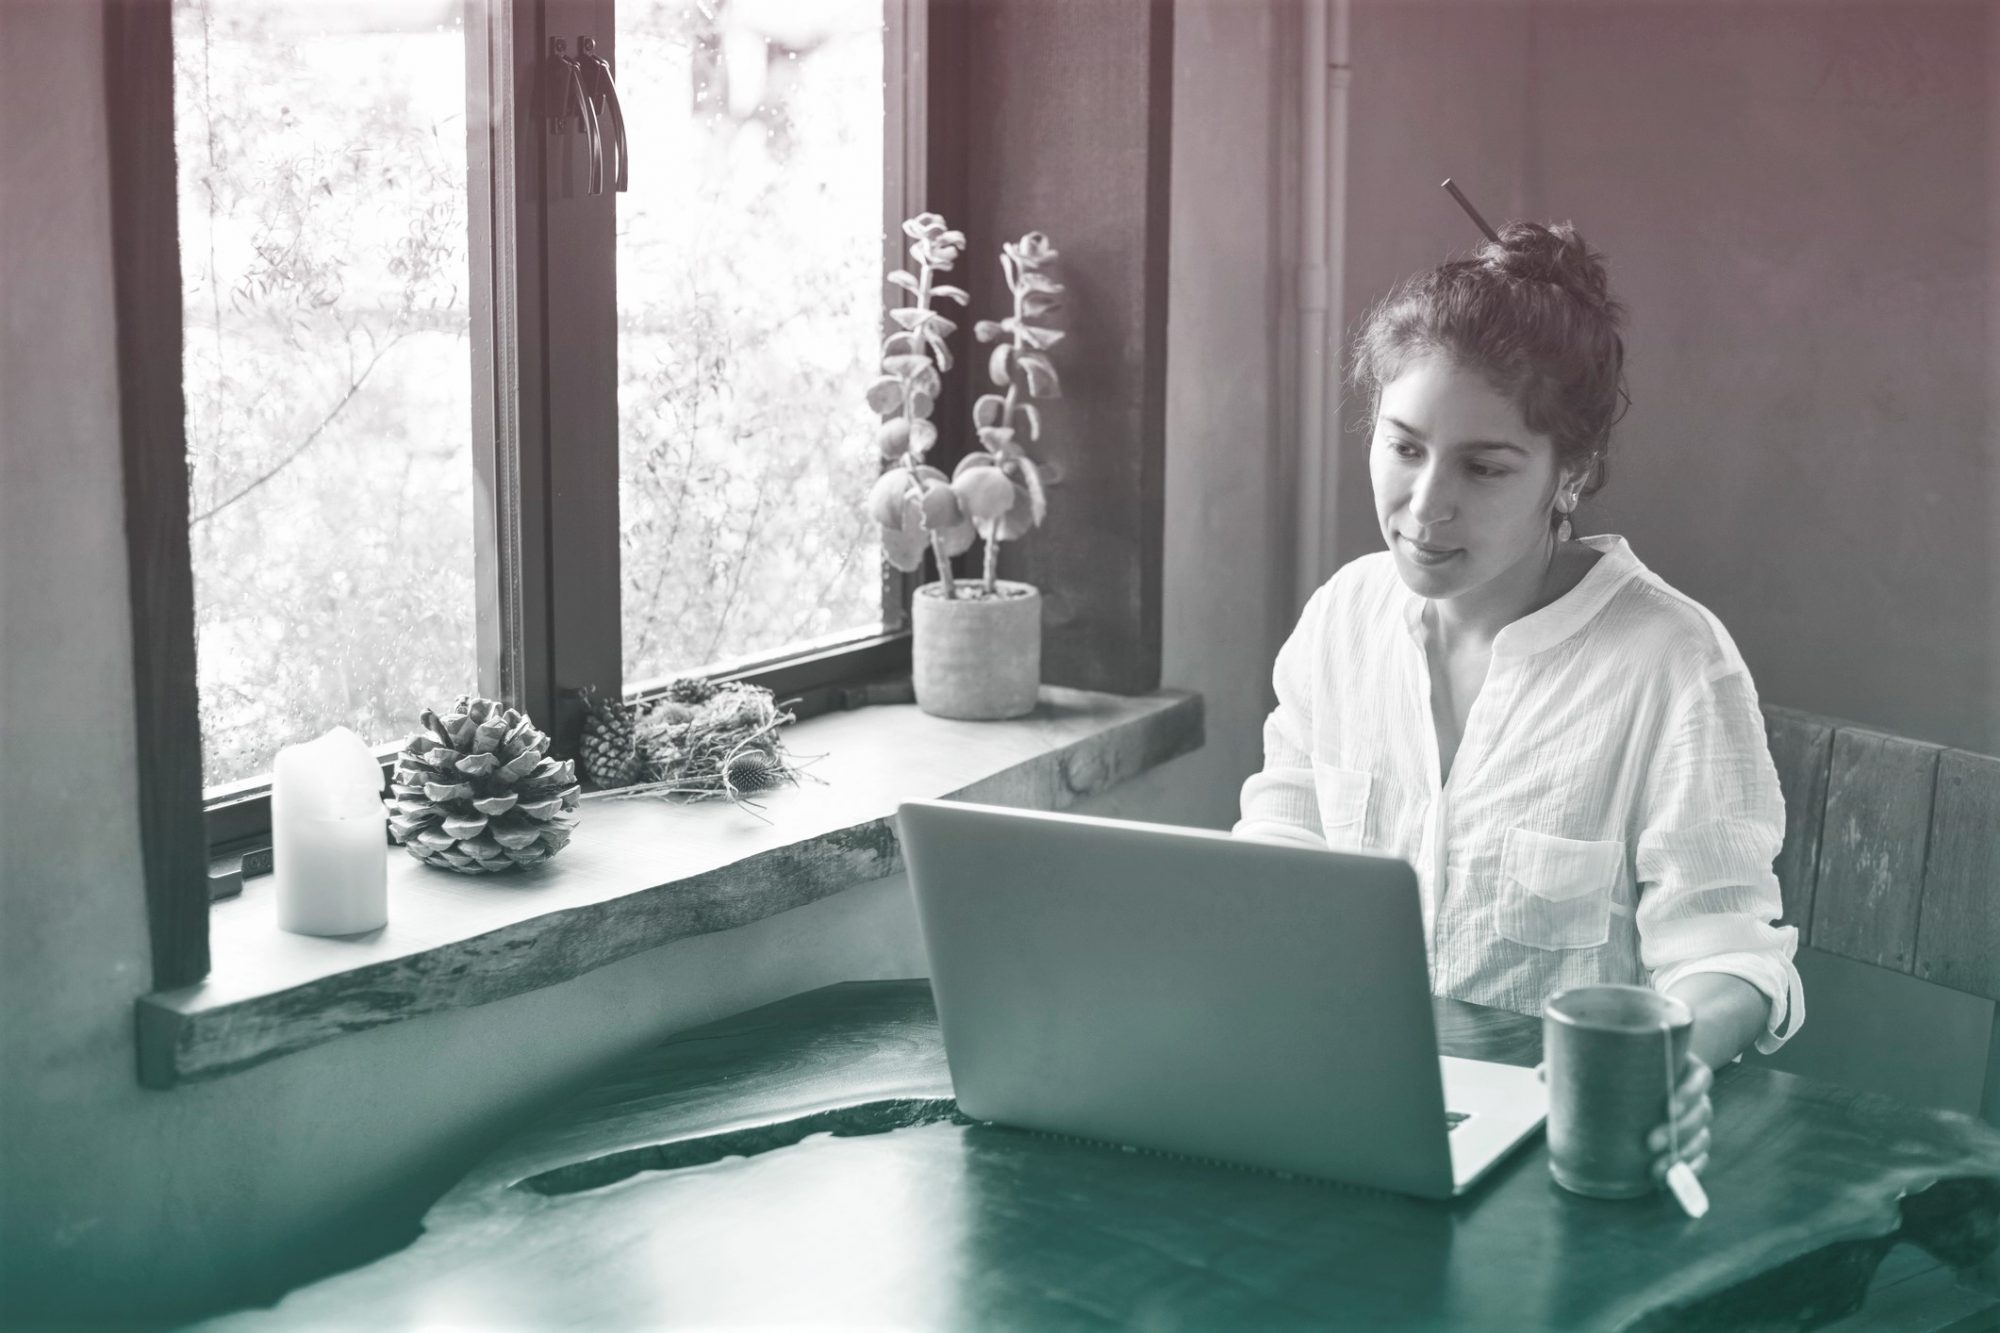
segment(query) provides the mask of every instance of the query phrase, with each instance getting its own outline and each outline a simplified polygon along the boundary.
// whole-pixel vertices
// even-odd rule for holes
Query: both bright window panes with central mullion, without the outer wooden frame
[[[426,705],[476,689],[560,737],[584,691],[802,656],[828,681],[894,650],[898,588],[860,498],[880,466],[864,388],[884,222],[914,158],[888,110],[898,8],[624,0],[566,48],[592,36],[616,60],[636,170],[600,194],[576,120],[550,134],[544,102],[516,102],[524,142],[484,118],[468,134],[468,68],[496,48],[548,68],[504,12],[476,6],[468,30],[464,0],[174,0],[212,843],[258,841],[276,751],[334,725],[386,757]],[[542,158],[546,196],[492,188],[508,150]],[[512,272],[504,228],[470,216],[480,178],[482,204],[548,212]],[[536,304],[558,356],[546,420],[522,422],[492,398],[534,396],[538,368],[494,362]],[[522,484],[538,470],[546,488]],[[510,474],[478,524],[480,482]],[[542,522],[546,546],[506,540]],[[508,606],[508,584],[546,610]]]

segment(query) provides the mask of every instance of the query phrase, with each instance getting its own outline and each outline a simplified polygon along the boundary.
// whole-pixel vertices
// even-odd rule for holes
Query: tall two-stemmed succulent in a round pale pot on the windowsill
[[[998,576],[1000,542],[1024,536],[1048,512],[1048,476],[1024,440],[1042,438],[1042,414],[1032,398],[1054,398],[1062,384],[1048,348],[1062,332],[1038,322],[1062,304],[1062,284],[1048,274],[1054,246],[1028,232],[1000,246],[1014,312],[980,320],[974,334],[990,342],[986,376],[994,392],[972,404],[978,448],[960,458],[952,476],[924,462],[938,442],[930,412],[944,372],[952,368],[948,338],[956,324],[932,300],[964,306],[968,296],[936,280],[964,252],[934,212],[902,224],[916,272],[888,280],[914,298],[890,318],[896,330],[882,342],[882,376],[868,386],[868,406],[882,414],[876,444],[888,466],[868,494],[868,512],[882,526],[890,564],[916,572],[928,550],[938,576],[918,586],[910,606],[912,685],[926,713],[956,719],[1006,719],[1034,709],[1042,677],[1042,594]],[[952,556],[984,542],[980,578],[954,578]]]

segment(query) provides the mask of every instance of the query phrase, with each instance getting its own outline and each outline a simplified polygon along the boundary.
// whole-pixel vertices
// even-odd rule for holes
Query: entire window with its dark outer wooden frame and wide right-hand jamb
[[[826,705],[842,681],[906,669],[906,588],[876,574],[872,538],[854,540],[862,492],[844,490],[846,464],[824,452],[848,422],[864,432],[866,418],[822,394],[838,396],[842,376],[872,356],[878,328],[862,272],[872,284],[882,260],[898,260],[896,222],[920,206],[950,216],[986,254],[1028,228],[1048,230],[1086,270],[1072,274],[1082,278],[1070,288],[1082,310],[1064,370],[1068,426],[1052,444],[1066,478],[1052,500],[1062,518],[1010,544],[1002,568],[1044,586],[1044,683],[1120,693],[1158,685],[1172,4],[878,2],[868,24],[878,24],[880,46],[870,54],[860,0],[622,0],[616,16],[608,0],[368,0],[284,6],[298,12],[282,16],[260,14],[252,0],[178,0],[178,10],[176,0],[106,0],[154,987],[206,975],[208,835],[226,843],[266,823],[258,755],[284,741],[280,731],[308,707],[300,701],[324,703],[320,719],[356,719],[370,731],[372,719],[406,719],[440,681],[468,673],[468,596],[466,685],[524,707],[558,739],[580,723],[578,691],[628,693],[658,673],[704,664],[680,658],[728,658],[722,666],[734,675],[806,697],[802,711]],[[206,62],[184,76],[184,100],[176,28],[200,34]],[[458,74],[440,54],[454,30],[462,120],[452,102]],[[356,54],[366,42],[382,52],[384,34],[392,54]],[[552,42],[582,36],[610,56],[632,106],[678,104],[674,116],[658,112],[664,124],[634,118],[634,190],[646,172],[660,172],[652,190],[698,164],[720,170],[710,180],[728,180],[750,206],[734,222],[710,214],[708,226],[742,228],[770,194],[794,230],[782,240],[734,238],[736,248],[710,252],[720,258],[698,280],[682,274],[678,292],[656,276],[650,266],[686,244],[694,220],[644,192],[592,194],[574,126],[552,134],[542,118]],[[226,50],[232,40],[272,44],[264,54],[294,68],[246,90],[264,78],[264,62],[248,80],[224,76],[240,54]],[[284,50],[288,40],[298,50]],[[632,48],[626,56],[620,42]],[[330,56],[330,44],[348,54]],[[342,76],[310,76],[328,64]],[[864,82],[882,88],[872,170],[884,250],[810,268],[808,282],[792,268],[798,256],[772,250],[800,234],[828,244],[860,234],[866,190],[848,172],[798,176],[792,154],[860,144],[866,120],[830,116],[824,98]],[[288,88],[300,90],[296,100]],[[364,100],[342,100],[348,92]],[[188,236],[176,110],[200,122],[200,142],[184,140],[184,152],[200,192],[194,206],[208,214],[188,222]],[[232,140],[232,116],[274,118],[276,130]],[[310,170],[256,156],[296,128],[288,116],[320,118]],[[454,126],[462,158],[446,146]],[[678,148],[676,134],[686,140]],[[696,142],[702,134],[712,162]],[[232,162],[252,158],[256,180],[228,180]],[[782,180],[776,164],[786,166]],[[460,170],[462,208],[444,188]],[[342,196],[344,182],[362,180],[374,188]],[[820,214],[812,228],[798,226],[802,208]],[[648,212],[650,232],[640,228]],[[466,282],[454,290],[446,274],[460,262]],[[630,268],[624,286],[620,264]],[[1002,302],[996,266],[970,264],[962,284],[976,308]],[[746,292],[754,300],[722,308]],[[828,332],[800,332],[792,320],[806,310],[824,316]],[[702,336],[682,328],[676,340],[678,320]],[[722,354],[734,358],[728,376],[714,372]],[[236,406],[220,392],[232,374],[254,380]],[[706,388],[688,388],[690,378]],[[460,394],[452,380],[470,388]],[[754,430],[740,412],[720,410],[714,386],[724,382],[736,406],[748,400],[766,414],[752,414]],[[954,424],[962,432],[970,408],[970,394],[958,402],[958,392],[948,386],[938,404],[946,464]],[[412,404],[422,404],[422,428]],[[710,442],[676,452],[674,428],[690,426]],[[470,518],[440,516],[458,504],[446,492],[466,484],[466,454]],[[736,454],[772,462],[784,484],[736,470]],[[676,464],[702,478],[706,512],[680,512],[690,506]],[[664,480],[650,480],[648,466]],[[316,494],[326,486],[342,488],[344,502],[326,504]],[[810,540],[768,538],[748,522],[780,510],[818,524]],[[676,574],[662,554],[686,554],[680,532],[662,526],[676,514],[712,532],[694,542],[706,550],[690,556],[702,578],[680,608],[648,600],[648,584],[644,596],[632,592],[634,580]],[[360,558],[350,542],[364,520],[392,532],[402,522],[398,540]],[[330,550],[308,550],[316,544]],[[200,574],[196,560],[208,560]],[[714,600],[718,570],[738,580],[734,600]],[[388,614],[396,598],[436,620],[410,626],[414,610]],[[630,622],[628,602],[638,606]],[[320,624],[402,628],[422,642],[338,652],[320,642],[312,660],[272,666],[284,618],[314,614]],[[208,658],[200,681],[198,632]],[[208,703],[208,681],[234,689],[210,689]],[[248,785],[212,809],[204,703],[210,713],[238,711],[210,723],[238,741],[226,761],[218,747],[208,777]]]

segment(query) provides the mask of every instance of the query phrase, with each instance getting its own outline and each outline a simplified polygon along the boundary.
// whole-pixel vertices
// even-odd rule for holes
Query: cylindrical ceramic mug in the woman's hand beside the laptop
[[[1592,1199],[1636,1199],[1660,1183],[1646,1135],[1688,1059],[1694,1013],[1650,987],[1572,987],[1542,1005],[1548,1171]]]

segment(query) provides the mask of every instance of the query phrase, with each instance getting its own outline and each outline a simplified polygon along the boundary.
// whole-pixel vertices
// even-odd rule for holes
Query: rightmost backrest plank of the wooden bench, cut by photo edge
[[[1938,757],[1916,975],[2000,1001],[2000,759]]]

